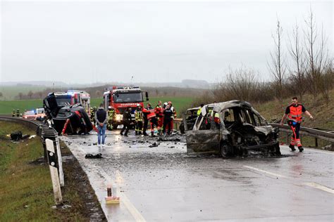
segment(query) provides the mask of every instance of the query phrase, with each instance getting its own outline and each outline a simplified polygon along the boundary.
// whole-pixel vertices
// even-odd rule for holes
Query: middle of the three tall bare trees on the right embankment
[[[289,37],[288,45],[289,53],[292,57],[293,68],[290,68],[290,80],[292,85],[295,85],[295,91],[299,95],[299,100],[302,101],[302,96],[307,91],[307,85],[305,84],[305,55],[304,49],[300,43],[299,27],[297,22],[292,30],[292,37]]]

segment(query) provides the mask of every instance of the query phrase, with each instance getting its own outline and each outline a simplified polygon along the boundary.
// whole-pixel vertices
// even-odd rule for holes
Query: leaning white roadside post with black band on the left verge
[[[56,152],[54,150],[54,141],[50,139],[45,140],[45,144],[47,146],[48,152],[48,160],[49,160],[49,168],[51,174],[52,188],[54,189],[54,201],[56,204],[62,204],[63,197],[61,196],[61,185],[59,184],[59,176],[58,176],[58,164]]]

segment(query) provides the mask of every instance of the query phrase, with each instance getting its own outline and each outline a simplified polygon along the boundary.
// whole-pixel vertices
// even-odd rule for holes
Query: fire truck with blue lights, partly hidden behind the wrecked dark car
[[[80,104],[90,115],[90,95],[86,91],[68,90],[67,92],[54,93],[58,106]]]

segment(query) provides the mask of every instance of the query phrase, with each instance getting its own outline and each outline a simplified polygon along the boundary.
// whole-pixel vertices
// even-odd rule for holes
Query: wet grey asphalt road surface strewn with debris
[[[117,133],[106,148],[93,145],[96,135],[61,138],[109,221],[334,221],[334,152],[281,146],[289,156],[221,159],[189,156],[183,141]],[[103,159],[85,159],[98,152]],[[105,204],[109,183],[118,205]]]

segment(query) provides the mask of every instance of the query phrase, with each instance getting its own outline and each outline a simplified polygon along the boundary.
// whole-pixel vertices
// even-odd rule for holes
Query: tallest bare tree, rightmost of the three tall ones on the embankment
[[[314,98],[318,95],[321,75],[328,67],[328,50],[326,49],[326,38],[321,27],[319,36],[314,14],[310,8],[309,17],[305,19],[307,25],[305,34],[305,48],[307,52],[307,79],[310,91]]]

